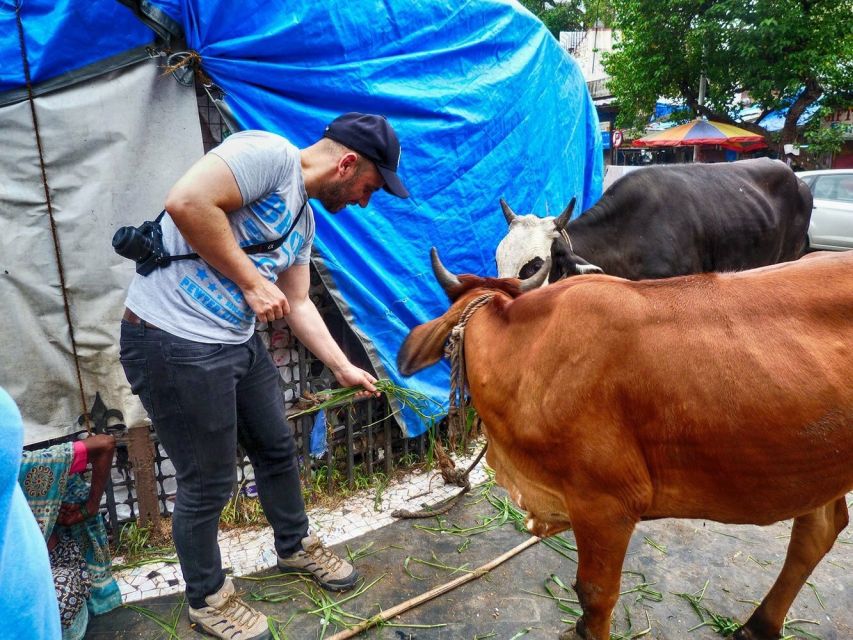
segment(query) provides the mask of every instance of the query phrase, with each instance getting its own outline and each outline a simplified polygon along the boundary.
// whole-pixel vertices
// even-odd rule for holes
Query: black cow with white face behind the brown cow
[[[549,282],[602,271],[631,280],[742,271],[799,258],[812,212],[805,183],[768,158],[633,171],[570,221],[574,202],[539,218],[501,200],[509,231],[498,276],[527,278],[549,254]]]

